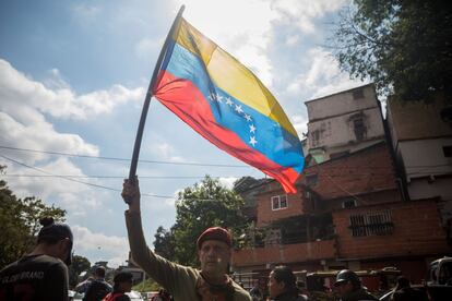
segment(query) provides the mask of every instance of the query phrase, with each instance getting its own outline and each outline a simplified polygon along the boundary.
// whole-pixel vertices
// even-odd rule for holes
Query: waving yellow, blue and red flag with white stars
[[[296,192],[305,158],[282,107],[250,70],[182,17],[153,95],[211,143]]]

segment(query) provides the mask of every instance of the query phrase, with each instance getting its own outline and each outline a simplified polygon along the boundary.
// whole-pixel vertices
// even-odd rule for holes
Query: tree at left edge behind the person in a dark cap
[[[0,166],[0,172],[4,170],[5,166]],[[40,229],[40,218],[47,216],[62,221],[64,215],[66,210],[48,206],[35,196],[16,197],[7,182],[0,180],[0,268],[32,250]]]

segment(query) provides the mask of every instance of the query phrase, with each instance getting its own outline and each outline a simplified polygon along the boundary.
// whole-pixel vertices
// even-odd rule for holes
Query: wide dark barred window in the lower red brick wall
[[[383,210],[350,215],[349,228],[354,237],[386,236],[392,234],[394,224],[392,222],[391,212]]]

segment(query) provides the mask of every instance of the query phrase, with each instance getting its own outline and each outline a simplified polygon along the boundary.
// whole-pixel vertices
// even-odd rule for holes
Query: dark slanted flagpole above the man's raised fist
[[[180,19],[182,16],[182,12],[185,9],[186,9],[186,5],[180,7],[176,19],[173,22],[171,28],[169,29],[169,33],[166,36],[166,40],[160,50],[160,55],[158,56],[157,62],[155,63],[154,73],[152,74],[151,83],[150,83],[150,86],[146,93],[146,98],[144,99],[143,110],[141,111],[141,118],[140,118],[140,123],[139,123],[139,128],[136,131],[135,144],[133,146],[132,161],[130,164],[130,171],[129,171],[130,181],[134,181],[135,179],[138,159],[140,156],[141,140],[143,137],[143,130],[144,130],[144,124],[146,122],[146,116],[147,116],[147,111],[150,108],[151,98],[154,96],[153,89],[154,89],[155,82],[157,81],[158,71],[160,70],[162,62],[167,53],[169,41],[173,38],[175,32],[179,28]]]

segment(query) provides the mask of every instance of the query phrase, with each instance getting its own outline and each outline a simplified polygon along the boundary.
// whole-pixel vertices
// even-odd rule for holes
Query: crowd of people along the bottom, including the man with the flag
[[[133,261],[157,281],[162,290],[155,301],[304,301],[297,278],[287,266],[276,266],[270,273],[265,293],[260,282],[248,291],[233,280],[228,268],[233,252],[233,238],[221,227],[203,231],[197,241],[200,269],[182,266],[155,254],[144,239],[138,179],[126,180],[122,197],[129,205],[126,225]],[[0,272],[0,301],[4,300],[68,300],[68,266],[71,264],[73,234],[70,227],[51,218],[40,221],[43,228],[33,251]],[[75,289],[84,292],[84,301],[129,301],[133,276],[120,272],[111,287],[105,280],[106,270],[97,267],[92,278]],[[344,269],[334,284],[342,301],[378,300],[361,286],[356,273]],[[169,293],[171,296],[169,296]],[[411,289],[409,281],[399,279],[392,300],[427,300]]]

